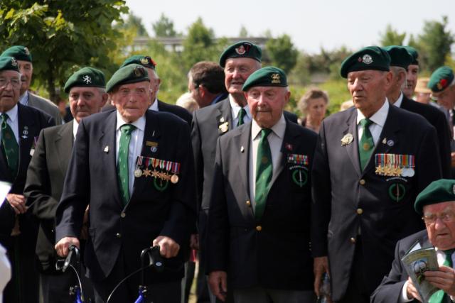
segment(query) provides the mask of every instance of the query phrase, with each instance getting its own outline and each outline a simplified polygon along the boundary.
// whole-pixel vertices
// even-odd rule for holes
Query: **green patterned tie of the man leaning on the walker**
[[[136,129],[136,126],[124,124],[120,126],[120,143],[119,143],[119,159],[117,162],[117,177],[119,178],[120,194],[122,194],[123,204],[129,202],[129,172],[128,172],[128,150],[129,141],[131,141],[131,133]]]

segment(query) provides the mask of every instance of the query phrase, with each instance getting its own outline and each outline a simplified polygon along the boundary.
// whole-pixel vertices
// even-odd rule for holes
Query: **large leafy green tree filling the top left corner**
[[[43,2],[41,2],[43,3]],[[55,99],[78,67],[94,65],[102,70],[115,68],[111,56],[119,31],[112,21],[121,21],[128,11],[120,0],[34,0],[0,2],[1,45],[26,45],[33,55],[33,75]]]

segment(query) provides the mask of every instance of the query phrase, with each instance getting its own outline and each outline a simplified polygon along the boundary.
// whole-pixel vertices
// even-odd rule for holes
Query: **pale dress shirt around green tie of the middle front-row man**
[[[279,121],[272,126],[272,132],[267,136],[267,141],[269,141],[270,152],[272,153],[272,180],[276,177],[279,172],[282,170],[280,165],[282,161],[282,143],[284,138],[284,131],[286,131],[286,120],[282,114],[282,117]],[[248,181],[250,183],[250,199],[252,202],[253,209],[255,209],[255,193],[256,193],[256,161],[257,161],[257,147],[259,146],[259,141],[261,141],[261,130],[262,128],[257,125],[256,121],[252,121],[251,125],[251,138],[250,141],[250,155],[249,158],[249,174]],[[272,186],[272,184],[269,184]]]

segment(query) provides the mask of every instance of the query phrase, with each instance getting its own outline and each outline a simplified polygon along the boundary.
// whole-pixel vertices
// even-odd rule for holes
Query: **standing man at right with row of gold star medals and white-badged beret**
[[[412,205],[441,178],[441,164],[434,128],[387,101],[393,75],[385,50],[358,50],[341,76],[354,107],[323,120],[313,162],[315,291],[328,272],[334,301],[370,302],[395,243],[422,229]]]

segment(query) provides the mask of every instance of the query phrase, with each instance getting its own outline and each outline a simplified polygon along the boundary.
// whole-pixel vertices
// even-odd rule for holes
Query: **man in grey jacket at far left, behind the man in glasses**
[[[14,57],[18,62],[19,71],[21,72],[21,97],[19,102],[23,105],[41,109],[41,111],[52,116],[57,125],[61,124],[62,116],[60,116],[58,107],[52,101],[39,97],[28,90],[33,76],[32,56],[28,48],[23,45],[14,45],[5,50],[0,56]]]

